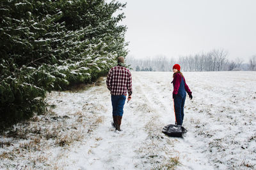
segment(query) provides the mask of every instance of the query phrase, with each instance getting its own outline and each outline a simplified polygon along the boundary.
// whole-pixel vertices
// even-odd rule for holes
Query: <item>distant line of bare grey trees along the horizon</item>
[[[182,56],[178,60],[168,59],[165,56],[152,59],[127,57],[126,62],[134,71],[171,71],[175,63],[180,64],[182,71],[256,71],[256,55],[252,56],[249,64],[243,63],[239,57],[228,60],[227,55],[228,52],[223,49],[214,49],[207,53]]]

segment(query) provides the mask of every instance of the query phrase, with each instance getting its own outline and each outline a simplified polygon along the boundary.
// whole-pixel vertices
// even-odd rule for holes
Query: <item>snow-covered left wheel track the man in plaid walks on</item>
[[[134,80],[136,81],[136,79]],[[105,85],[104,85],[104,88]],[[102,98],[102,103],[106,105],[108,110],[104,115],[104,123],[93,131],[91,139],[86,141],[85,145],[79,146],[78,150],[74,150],[70,155],[73,162],[72,167],[79,169],[134,169],[140,164],[136,150],[141,143],[147,138],[147,133],[143,126],[147,122],[148,117],[144,111],[150,111],[147,104],[141,98],[144,96],[136,89],[140,90],[134,83],[134,95],[132,101],[125,103],[124,115],[121,129],[124,132],[117,134],[111,127],[112,113],[111,101],[108,89],[104,92],[106,99]],[[102,95],[102,94],[100,94]],[[82,150],[82,152],[80,151]]]

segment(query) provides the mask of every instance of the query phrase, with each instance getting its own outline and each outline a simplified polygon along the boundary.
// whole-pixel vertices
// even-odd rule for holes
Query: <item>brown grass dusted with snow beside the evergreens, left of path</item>
[[[84,110],[57,115],[55,110],[63,105],[62,94],[53,92],[49,96],[49,103],[52,105],[48,105],[47,113],[35,115],[30,120],[20,122],[9,131],[3,132],[6,142],[0,141],[0,147],[4,148],[4,152],[0,152],[0,159],[6,161],[3,164],[1,162],[1,167],[61,169],[63,164],[60,164],[59,160],[65,156],[65,150],[77,141],[83,141],[86,136],[90,136],[104,121],[104,117],[97,116],[100,111],[106,111],[104,105],[88,103],[85,104]],[[60,96],[60,99],[54,101],[56,96]],[[58,155],[52,154],[56,147],[61,150]],[[22,165],[19,162],[22,162]]]

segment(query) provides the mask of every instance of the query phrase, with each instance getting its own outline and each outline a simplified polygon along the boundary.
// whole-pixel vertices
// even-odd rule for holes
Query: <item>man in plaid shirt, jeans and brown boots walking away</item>
[[[124,57],[118,57],[117,62],[118,65],[109,70],[106,84],[111,93],[113,126],[116,128],[116,131],[122,131],[120,125],[127,92],[129,95],[128,101],[131,100],[132,95],[132,76],[129,69],[124,66]]]

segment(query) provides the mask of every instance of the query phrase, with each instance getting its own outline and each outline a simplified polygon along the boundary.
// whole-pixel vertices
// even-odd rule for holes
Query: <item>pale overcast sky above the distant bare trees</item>
[[[256,54],[256,0],[120,0],[129,55],[179,56],[228,51],[248,62]]]

